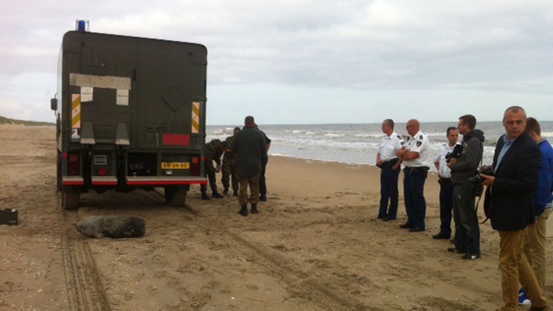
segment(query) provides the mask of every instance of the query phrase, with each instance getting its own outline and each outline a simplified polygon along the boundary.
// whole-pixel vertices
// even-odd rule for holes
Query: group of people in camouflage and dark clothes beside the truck
[[[235,127],[233,135],[227,137],[225,142],[212,139],[206,143],[205,173],[211,187],[212,198],[224,198],[217,191],[216,180],[216,173],[222,171],[223,194],[228,194],[232,183],[233,196],[238,196],[238,202],[241,205],[239,214],[248,216],[248,202],[251,204],[250,212],[257,214],[258,202],[267,201],[265,168],[269,161],[267,152],[270,144],[271,140],[258,128],[252,116],[245,118],[242,129]],[[222,167],[221,155],[223,156]],[[200,190],[202,199],[209,200],[207,185],[202,184]]]

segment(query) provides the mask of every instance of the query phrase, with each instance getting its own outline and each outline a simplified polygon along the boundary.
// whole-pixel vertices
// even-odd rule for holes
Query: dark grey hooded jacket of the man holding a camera
[[[457,159],[457,163],[451,165],[451,182],[454,184],[466,184],[467,179],[478,173],[478,166],[484,152],[484,133],[479,129],[473,129],[463,136],[463,151]]]

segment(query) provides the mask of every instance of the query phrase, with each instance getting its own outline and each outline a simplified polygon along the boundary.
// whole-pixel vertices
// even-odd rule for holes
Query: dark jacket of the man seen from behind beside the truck
[[[267,153],[265,136],[257,128],[244,127],[232,139],[232,152],[236,153],[238,176],[253,176],[261,172],[261,158]]]

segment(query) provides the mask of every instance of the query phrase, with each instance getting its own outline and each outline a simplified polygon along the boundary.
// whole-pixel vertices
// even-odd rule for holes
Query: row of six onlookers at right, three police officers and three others
[[[452,243],[447,248],[465,260],[481,257],[480,228],[475,198],[487,186],[484,207],[492,228],[499,231],[499,268],[502,276],[501,311],[546,310],[543,294],[546,275],[545,222],[553,202],[553,149],[541,137],[538,121],[527,118],[523,108],[512,106],[503,115],[505,134],[495,146],[491,168],[482,168],[484,133],[476,118],[464,115],[457,127],[446,130],[447,143],[440,147],[434,164],[440,183],[440,232],[434,239],[451,238],[451,212],[455,221]],[[398,210],[398,179],[404,165],[404,203],[410,232],[426,229],[424,184],[429,170],[430,143],[417,120],[406,125],[406,141],[384,120],[385,133],[377,155],[380,174],[378,218],[394,220]],[[459,134],[463,138],[458,142]],[[528,295],[526,297],[526,294]]]

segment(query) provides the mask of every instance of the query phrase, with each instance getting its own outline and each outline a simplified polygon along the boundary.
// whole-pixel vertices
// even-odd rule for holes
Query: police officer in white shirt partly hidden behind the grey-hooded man
[[[447,166],[446,159],[455,154],[455,146],[458,143],[459,130],[456,127],[448,127],[446,131],[447,143],[440,146],[440,151],[434,159],[434,165],[440,179],[440,232],[432,236],[432,239],[450,239],[451,237],[451,210],[453,209],[453,184],[451,183],[451,169]],[[457,225],[457,224],[455,224]]]

